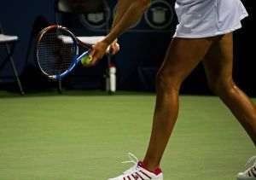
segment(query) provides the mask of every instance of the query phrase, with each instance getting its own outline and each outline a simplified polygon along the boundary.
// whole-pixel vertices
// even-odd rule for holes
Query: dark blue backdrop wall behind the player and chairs
[[[109,0],[109,21],[113,18],[115,0]],[[253,46],[248,45],[253,37],[253,3],[245,0],[250,17],[243,21],[244,28],[235,33],[235,79],[241,88],[249,94],[255,94],[255,67]],[[29,46],[34,20],[43,15],[50,23],[55,22],[54,0],[48,1],[3,1],[0,7],[0,18],[5,32],[20,37],[15,49],[15,61],[21,75],[22,83],[32,88],[39,84],[46,87],[47,80],[40,77],[34,66],[33,47]],[[143,16],[137,26],[131,28],[119,38],[122,49],[114,57],[118,67],[118,87],[121,90],[154,90],[154,76],[176,25],[172,1],[154,0],[151,9]],[[63,18],[63,17],[62,17]],[[84,15],[66,18],[66,25],[75,30],[78,35],[101,34],[106,26],[102,25],[100,14]],[[106,18],[106,17],[105,17]],[[29,56],[27,57],[27,52]],[[0,61],[1,62],[1,61]],[[104,70],[104,63],[92,69],[79,68],[68,79],[67,85],[71,88],[100,88]],[[95,79],[93,76],[95,75]],[[9,66],[0,70],[2,81],[10,80],[12,71]],[[40,77],[37,80],[35,77]],[[96,78],[98,80],[96,80]],[[88,79],[94,79],[95,84]],[[42,85],[43,82],[43,85]],[[78,85],[79,84],[79,85]],[[195,72],[183,84],[183,92],[207,93],[207,84],[203,69],[197,67]]]

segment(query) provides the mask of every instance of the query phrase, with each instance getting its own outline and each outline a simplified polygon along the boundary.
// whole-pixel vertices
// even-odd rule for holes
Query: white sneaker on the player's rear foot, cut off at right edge
[[[248,160],[246,171],[238,173],[237,180],[256,180],[256,156]]]

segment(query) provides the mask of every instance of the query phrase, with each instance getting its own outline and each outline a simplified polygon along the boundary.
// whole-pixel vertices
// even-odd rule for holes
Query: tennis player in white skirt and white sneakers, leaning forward
[[[107,38],[95,45],[92,64],[100,60],[109,44],[119,50],[116,39],[139,20],[150,0],[119,0],[113,28]],[[256,145],[256,108],[232,78],[232,32],[241,28],[247,11],[240,0],[177,0],[179,24],[156,78],[156,104],[152,134],[143,161],[110,180],[162,180],[160,160],[177,120],[178,94],[184,78],[202,62],[211,90],[236,116]],[[252,158],[238,180],[256,180]]]

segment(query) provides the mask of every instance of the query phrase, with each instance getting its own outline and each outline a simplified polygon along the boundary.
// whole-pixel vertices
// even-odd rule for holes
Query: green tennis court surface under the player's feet
[[[107,180],[148,145],[154,94],[0,91],[0,180]],[[214,96],[181,96],[165,180],[235,180],[253,143]],[[253,100],[255,102],[255,99]]]

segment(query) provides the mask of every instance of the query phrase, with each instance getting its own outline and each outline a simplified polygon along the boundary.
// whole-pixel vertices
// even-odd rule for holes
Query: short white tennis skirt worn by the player
[[[248,14],[240,0],[177,0],[175,38],[207,38],[241,28]]]

